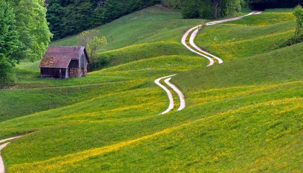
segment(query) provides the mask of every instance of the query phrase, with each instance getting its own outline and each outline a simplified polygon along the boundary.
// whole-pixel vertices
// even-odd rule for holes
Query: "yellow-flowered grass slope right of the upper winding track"
[[[201,29],[196,45],[223,61],[269,52],[295,33],[295,17],[288,9],[269,10],[241,20]]]

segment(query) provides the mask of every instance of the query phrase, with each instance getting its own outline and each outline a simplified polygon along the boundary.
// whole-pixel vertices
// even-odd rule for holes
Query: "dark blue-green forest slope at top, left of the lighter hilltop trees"
[[[111,22],[160,0],[47,0],[47,21],[54,40]]]

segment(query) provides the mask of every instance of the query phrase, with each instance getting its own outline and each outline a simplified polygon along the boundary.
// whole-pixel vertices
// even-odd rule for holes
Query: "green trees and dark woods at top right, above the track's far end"
[[[234,15],[242,7],[256,10],[293,8],[303,0],[162,0],[172,9],[181,9],[184,18],[218,18]]]

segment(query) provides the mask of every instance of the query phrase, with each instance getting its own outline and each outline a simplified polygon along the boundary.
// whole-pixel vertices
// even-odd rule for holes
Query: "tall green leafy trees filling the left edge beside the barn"
[[[43,0],[1,0],[0,16],[0,88],[5,88],[15,82],[15,63],[41,59],[52,34]]]

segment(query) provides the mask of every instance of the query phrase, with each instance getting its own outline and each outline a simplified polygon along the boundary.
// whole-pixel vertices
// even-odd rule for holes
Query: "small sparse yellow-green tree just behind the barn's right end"
[[[102,50],[107,45],[105,36],[100,36],[98,30],[88,30],[80,33],[77,43],[86,47],[89,56],[89,68],[94,68],[97,61],[97,51]]]

